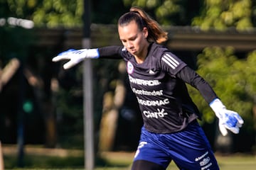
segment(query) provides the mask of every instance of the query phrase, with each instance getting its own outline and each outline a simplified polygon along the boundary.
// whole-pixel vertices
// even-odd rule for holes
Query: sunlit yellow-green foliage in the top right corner
[[[252,6],[251,0],[207,0],[201,15],[193,18],[192,26],[200,26],[202,30],[225,30],[228,27],[250,30],[253,27]]]

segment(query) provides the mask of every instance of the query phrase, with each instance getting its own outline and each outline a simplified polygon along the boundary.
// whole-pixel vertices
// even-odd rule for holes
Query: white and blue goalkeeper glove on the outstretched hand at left
[[[82,49],[82,50],[67,50],[65,52],[60,52],[58,56],[53,57],[53,62],[58,62],[60,60],[70,60],[63,65],[64,69],[70,69],[75,66],[85,58],[98,58],[100,57],[97,48],[95,49]]]

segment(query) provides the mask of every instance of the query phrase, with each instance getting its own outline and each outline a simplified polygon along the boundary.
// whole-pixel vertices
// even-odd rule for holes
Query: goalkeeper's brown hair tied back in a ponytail
[[[147,40],[149,41],[154,41],[160,44],[168,39],[167,32],[159,26],[159,23],[143,11],[142,8],[135,6],[130,8],[128,13],[124,13],[124,15],[119,18],[118,26],[126,26],[131,21],[135,21],[140,30],[144,27],[148,29],[149,35]]]

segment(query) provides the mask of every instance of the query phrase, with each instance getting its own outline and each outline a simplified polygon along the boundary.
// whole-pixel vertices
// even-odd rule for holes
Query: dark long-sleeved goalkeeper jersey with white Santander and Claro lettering
[[[138,64],[124,47],[102,47],[99,53],[100,58],[122,57],[127,63],[129,83],[137,96],[144,127],[149,132],[178,132],[200,117],[185,83],[198,89],[208,103],[217,97],[193,69],[156,43],[151,43],[142,64]]]

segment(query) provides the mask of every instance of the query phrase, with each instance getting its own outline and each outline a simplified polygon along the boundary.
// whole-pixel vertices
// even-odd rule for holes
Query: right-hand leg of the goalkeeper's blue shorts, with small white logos
[[[171,157],[180,169],[219,169],[210,144],[198,123],[169,135]]]

